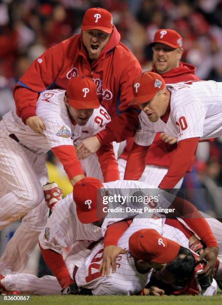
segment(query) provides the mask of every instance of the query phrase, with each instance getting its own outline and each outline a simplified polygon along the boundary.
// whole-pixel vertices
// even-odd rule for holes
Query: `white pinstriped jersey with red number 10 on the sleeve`
[[[142,111],[135,142],[141,146],[152,144],[157,132],[184,139],[217,138],[222,135],[222,83],[191,81],[168,84],[171,91],[170,116],[167,123],[159,119],[150,122]]]

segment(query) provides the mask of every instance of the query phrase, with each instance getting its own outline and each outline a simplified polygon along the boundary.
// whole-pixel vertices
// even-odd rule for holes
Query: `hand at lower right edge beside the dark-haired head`
[[[215,264],[218,257],[219,249],[217,247],[208,247],[204,249],[203,253],[197,258],[197,261],[201,262],[203,259],[207,260],[207,266],[199,275],[204,275],[205,277],[211,277],[215,272]]]

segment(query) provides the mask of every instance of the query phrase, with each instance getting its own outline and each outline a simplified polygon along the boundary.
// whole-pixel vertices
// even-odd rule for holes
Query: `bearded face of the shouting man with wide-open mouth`
[[[87,49],[89,59],[96,60],[109,41],[111,34],[100,30],[82,31],[82,41]]]

